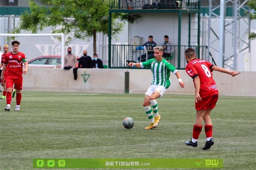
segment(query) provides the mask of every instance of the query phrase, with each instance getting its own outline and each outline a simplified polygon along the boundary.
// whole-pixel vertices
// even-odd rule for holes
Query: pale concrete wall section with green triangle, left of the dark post
[[[81,74],[86,76],[86,82]],[[29,68],[23,76],[23,89],[60,92],[124,93],[124,70],[78,69],[74,80],[73,70]]]

